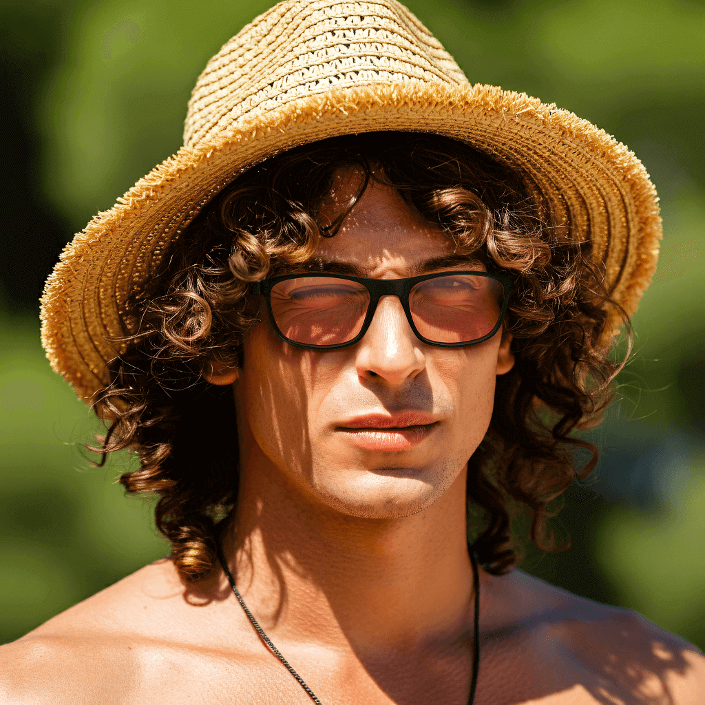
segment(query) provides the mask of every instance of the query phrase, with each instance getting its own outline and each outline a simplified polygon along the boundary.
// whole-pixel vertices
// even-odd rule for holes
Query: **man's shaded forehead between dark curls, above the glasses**
[[[336,173],[321,202],[321,225],[344,212],[359,188],[359,173]],[[315,257],[350,262],[374,276],[385,267],[413,269],[430,257],[450,255],[453,249],[441,228],[424,219],[396,190],[370,180],[336,235],[321,238]]]

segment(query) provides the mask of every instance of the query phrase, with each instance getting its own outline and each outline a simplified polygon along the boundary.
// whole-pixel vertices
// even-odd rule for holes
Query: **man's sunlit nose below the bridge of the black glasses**
[[[379,377],[391,386],[403,384],[426,367],[421,345],[399,298],[383,296],[367,332],[355,346],[357,374],[367,379]]]

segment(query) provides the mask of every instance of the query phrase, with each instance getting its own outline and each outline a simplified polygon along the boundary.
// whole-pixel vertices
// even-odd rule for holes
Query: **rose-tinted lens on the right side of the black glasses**
[[[471,274],[427,279],[409,295],[417,330],[435,343],[470,343],[484,338],[497,325],[503,302],[501,282]]]

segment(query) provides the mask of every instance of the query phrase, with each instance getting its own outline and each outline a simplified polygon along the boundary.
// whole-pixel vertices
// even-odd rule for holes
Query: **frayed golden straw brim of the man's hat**
[[[611,297],[635,312],[656,268],[661,219],[654,185],[625,145],[569,111],[498,87],[376,82],[293,99],[216,142],[182,147],[97,215],[47,280],[42,343],[51,366],[90,403],[135,326],[125,300],[209,200],[278,152],[377,130],[446,135],[515,168],[553,238],[590,240]]]

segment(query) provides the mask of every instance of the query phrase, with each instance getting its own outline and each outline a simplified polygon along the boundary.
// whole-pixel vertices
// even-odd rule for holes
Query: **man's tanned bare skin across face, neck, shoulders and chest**
[[[324,217],[346,189],[341,175]],[[317,255],[398,278],[451,251],[395,192],[372,185]],[[238,408],[240,501],[226,559],[324,704],[467,702],[465,460],[489,424],[496,376],[513,365],[509,344],[498,333],[470,348],[426,345],[390,296],[350,348],[293,348],[264,321],[243,369],[209,372],[233,385]],[[363,447],[345,426],[409,410],[434,419],[409,448]],[[705,658],[639,615],[520,570],[482,571],[479,589],[477,705],[701,705]],[[311,702],[220,569],[185,588],[166,559],[1,647],[0,663],[3,705]]]

